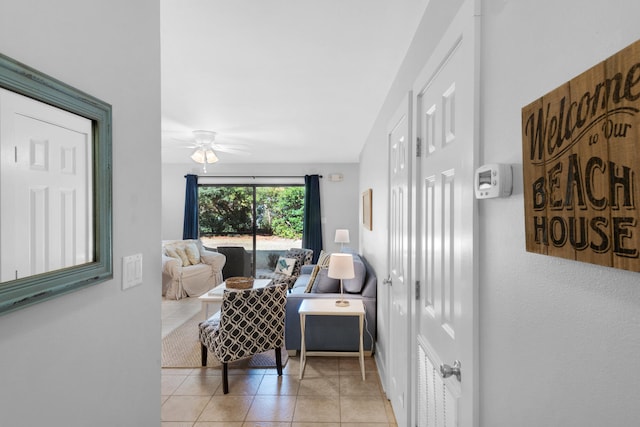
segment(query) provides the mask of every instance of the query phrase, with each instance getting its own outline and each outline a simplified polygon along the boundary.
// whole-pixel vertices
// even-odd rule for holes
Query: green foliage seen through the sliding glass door
[[[200,187],[200,234],[251,234],[253,187]],[[302,238],[304,187],[256,187],[257,233]]]

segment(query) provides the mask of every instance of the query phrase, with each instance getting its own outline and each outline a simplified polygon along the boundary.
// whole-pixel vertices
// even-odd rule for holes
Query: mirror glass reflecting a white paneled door
[[[91,120],[0,89],[1,280],[93,260]]]

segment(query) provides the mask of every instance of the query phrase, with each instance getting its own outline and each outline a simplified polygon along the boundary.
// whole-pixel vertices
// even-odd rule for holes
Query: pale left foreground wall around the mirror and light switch
[[[114,230],[113,280],[0,316],[2,425],[160,425],[159,23],[154,0],[0,0],[0,52],[113,106]]]

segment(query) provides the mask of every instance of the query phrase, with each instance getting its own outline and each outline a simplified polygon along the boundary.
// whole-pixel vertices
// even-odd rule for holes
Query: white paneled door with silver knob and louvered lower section
[[[468,2],[414,86],[417,253],[415,425],[477,425],[476,35]],[[460,362],[460,379],[441,366]]]

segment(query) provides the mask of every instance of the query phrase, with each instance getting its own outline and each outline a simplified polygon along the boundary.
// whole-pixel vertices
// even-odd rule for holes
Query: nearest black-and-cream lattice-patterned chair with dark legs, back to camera
[[[276,368],[282,375],[284,283],[259,289],[226,290],[220,311],[200,323],[202,366],[211,351],[222,363],[222,389],[229,392],[227,364],[267,350],[275,350]]]

